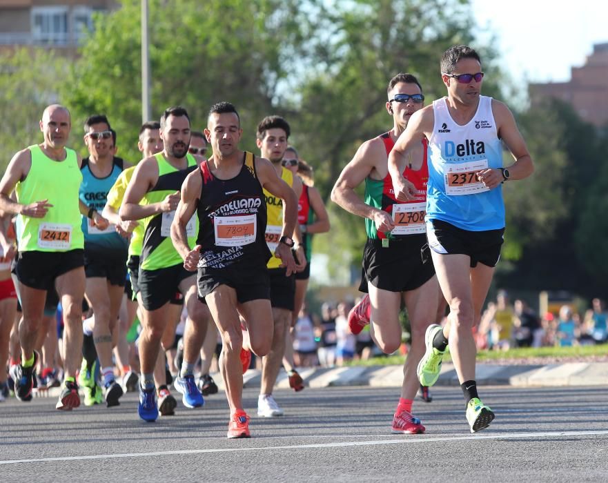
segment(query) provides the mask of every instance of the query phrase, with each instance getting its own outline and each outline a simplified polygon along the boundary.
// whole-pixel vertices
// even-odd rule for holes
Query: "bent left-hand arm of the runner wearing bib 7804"
[[[194,170],[184,180],[182,184],[181,197],[175,217],[171,224],[171,240],[177,253],[184,259],[184,268],[194,271],[197,269],[197,264],[200,258],[200,245],[190,249],[188,244],[188,233],[186,233],[186,225],[190,218],[194,215],[197,209],[197,201],[201,195],[202,177],[199,170]]]

